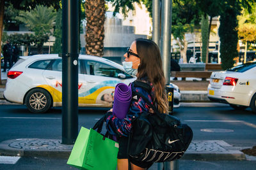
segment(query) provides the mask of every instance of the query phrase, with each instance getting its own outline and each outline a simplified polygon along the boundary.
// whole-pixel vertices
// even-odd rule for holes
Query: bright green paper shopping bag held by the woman
[[[115,170],[117,153],[118,143],[81,127],[67,164],[79,169]]]

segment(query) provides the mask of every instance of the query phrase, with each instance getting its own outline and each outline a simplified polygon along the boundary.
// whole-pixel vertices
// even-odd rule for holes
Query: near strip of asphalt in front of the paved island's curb
[[[0,156],[1,161],[1,156]],[[38,169],[38,170],[65,170],[65,169],[76,169],[74,167],[68,166],[67,160],[65,159],[48,159],[42,157],[33,158],[21,158],[15,164],[1,164],[1,170],[28,170],[28,169]],[[180,170],[240,170],[240,169],[255,169],[256,161],[194,161],[194,160],[180,160],[179,169]],[[150,167],[149,170],[157,170],[157,164]],[[160,165],[161,166],[161,165]]]

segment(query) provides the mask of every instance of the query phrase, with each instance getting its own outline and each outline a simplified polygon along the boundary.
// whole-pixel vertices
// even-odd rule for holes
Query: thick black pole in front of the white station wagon
[[[78,0],[62,1],[62,143],[78,134]]]

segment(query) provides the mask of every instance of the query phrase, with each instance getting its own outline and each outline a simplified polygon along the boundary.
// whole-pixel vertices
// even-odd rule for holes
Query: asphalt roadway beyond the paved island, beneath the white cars
[[[106,111],[106,110],[105,110]],[[79,110],[79,129],[93,127],[104,110]],[[191,126],[193,140],[224,140],[234,146],[256,145],[256,115],[230,107],[182,107],[175,116]],[[0,141],[15,138],[61,139],[61,109],[29,113],[25,106],[0,105]]]

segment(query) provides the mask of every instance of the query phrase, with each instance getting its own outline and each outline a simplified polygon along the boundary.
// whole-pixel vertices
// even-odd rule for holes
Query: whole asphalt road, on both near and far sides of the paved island
[[[106,110],[79,110],[79,128],[90,128]],[[193,140],[224,140],[241,149],[256,145],[256,115],[250,110],[235,111],[227,106],[182,107],[175,109],[175,116],[189,124]],[[61,139],[61,109],[45,114],[29,113],[25,106],[0,106],[0,141],[17,138]],[[5,158],[0,156],[0,169],[70,169],[66,159],[40,157]],[[3,162],[1,162],[3,160]],[[13,160],[13,164],[9,162]],[[255,169],[252,161],[193,161],[180,160],[179,169]],[[71,168],[74,169],[74,168]],[[150,170],[157,169],[155,164]]]

